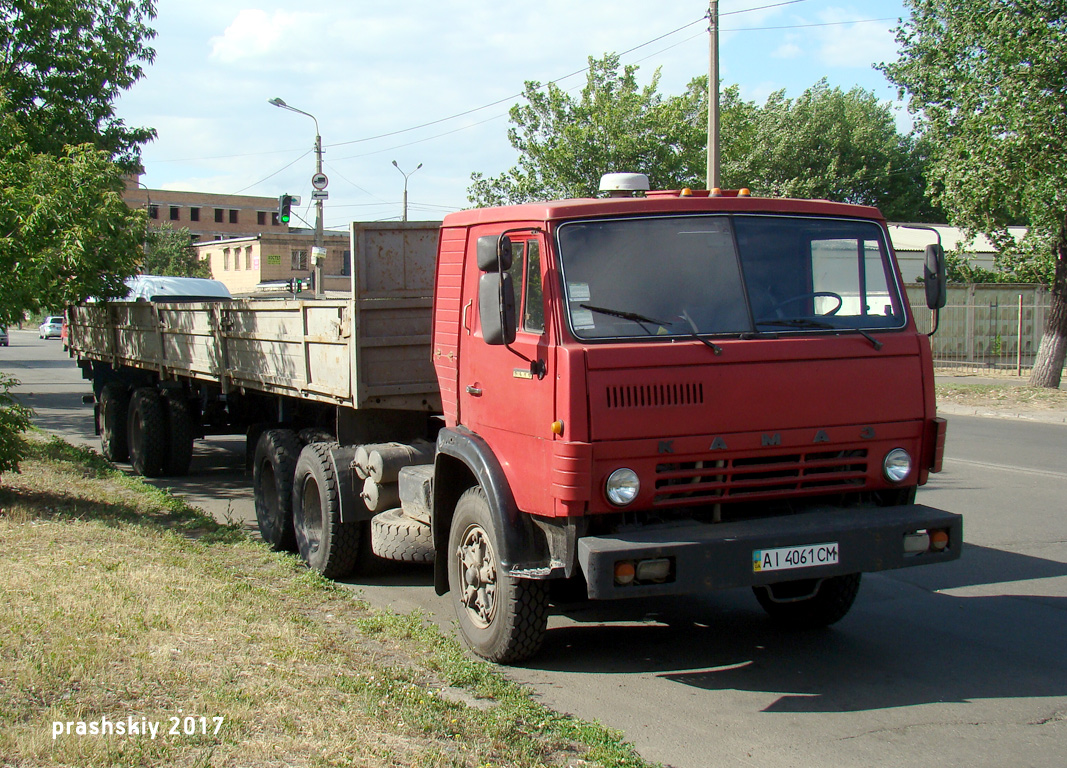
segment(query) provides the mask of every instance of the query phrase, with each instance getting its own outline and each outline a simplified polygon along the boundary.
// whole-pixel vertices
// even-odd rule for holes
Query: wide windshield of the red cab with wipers
[[[578,338],[895,329],[882,229],[810,217],[569,222],[558,244]]]

